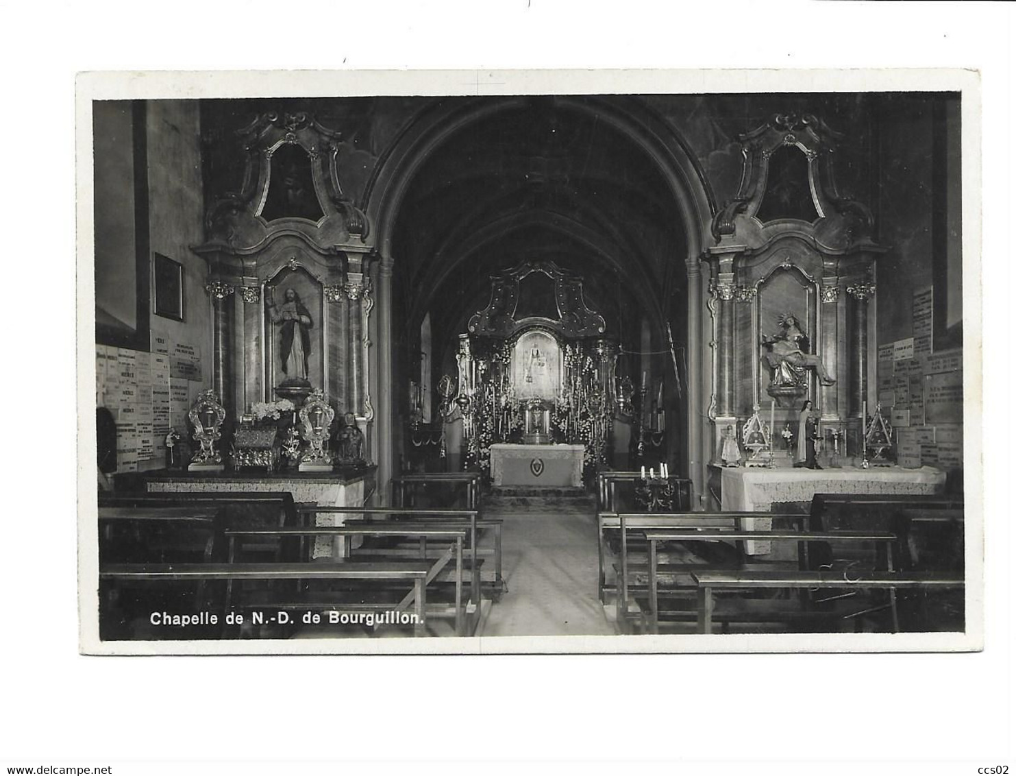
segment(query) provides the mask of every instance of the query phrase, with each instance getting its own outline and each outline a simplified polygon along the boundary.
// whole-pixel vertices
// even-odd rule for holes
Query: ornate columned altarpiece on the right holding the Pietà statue
[[[868,394],[871,212],[834,178],[842,135],[812,115],[775,115],[740,137],[737,196],[712,222],[713,460],[723,429],[761,407],[778,432],[806,401],[860,445]],[[853,440],[851,445],[851,439]]]

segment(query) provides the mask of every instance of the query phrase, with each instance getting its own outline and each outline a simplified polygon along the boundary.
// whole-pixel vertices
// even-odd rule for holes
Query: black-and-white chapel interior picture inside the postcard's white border
[[[101,638],[963,631],[960,107],[92,103]]]

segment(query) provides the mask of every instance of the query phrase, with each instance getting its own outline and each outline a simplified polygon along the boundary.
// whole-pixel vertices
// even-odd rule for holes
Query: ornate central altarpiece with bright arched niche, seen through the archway
[[[497,442],[579,443],[605,460],[617,346],[586,306],[582,278],[552,261],[491,278],[491,301],[459,335],[457,402],[463,463],[490,466]]]

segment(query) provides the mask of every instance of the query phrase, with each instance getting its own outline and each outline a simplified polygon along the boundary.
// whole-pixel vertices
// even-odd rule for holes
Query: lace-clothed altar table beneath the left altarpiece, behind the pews
[[[377,467],[369,466],[350,472],[169,472],[157,471],[145,477],[149,493],[250,492],[260,490],[288,491],[297,502],[314,502],[321,506],[362,506],[365,482],[373,485]],[[325,513],[317,516],[315,525],[342,526],[346,520],[362,516]],[[313,557],[342,557],[346,553],[345,537],[318,536],[314,540]]]

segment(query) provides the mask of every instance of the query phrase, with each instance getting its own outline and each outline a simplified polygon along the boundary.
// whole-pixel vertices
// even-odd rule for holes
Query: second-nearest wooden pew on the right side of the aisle
[[[744,556],[744,542],[752,540],[789,541],[796,542],[801,548],[806,542],[875,542],[883,548],[883,563],[885,571],[893,571],[892,544],[896,535],[882,531],[722,531],[713,529],[676,530],[676,529],[645,529],[649,550],[649,626],[652,633],[659,631],[659,600],[658,600],[658,565],[657,546],[660,542],[691,542],[691,541],[724,541],[737,542]],[[802,562],[804,562],[802,560]],[[704,571],[691,573],[693,579]],[[726,572],[729,574],[731,572]],[[744,573],[744,572],[735,572]],[[890,593],[890,595],[892,595]],[[893,616],[895,617],[895,599],[891,600]]]

